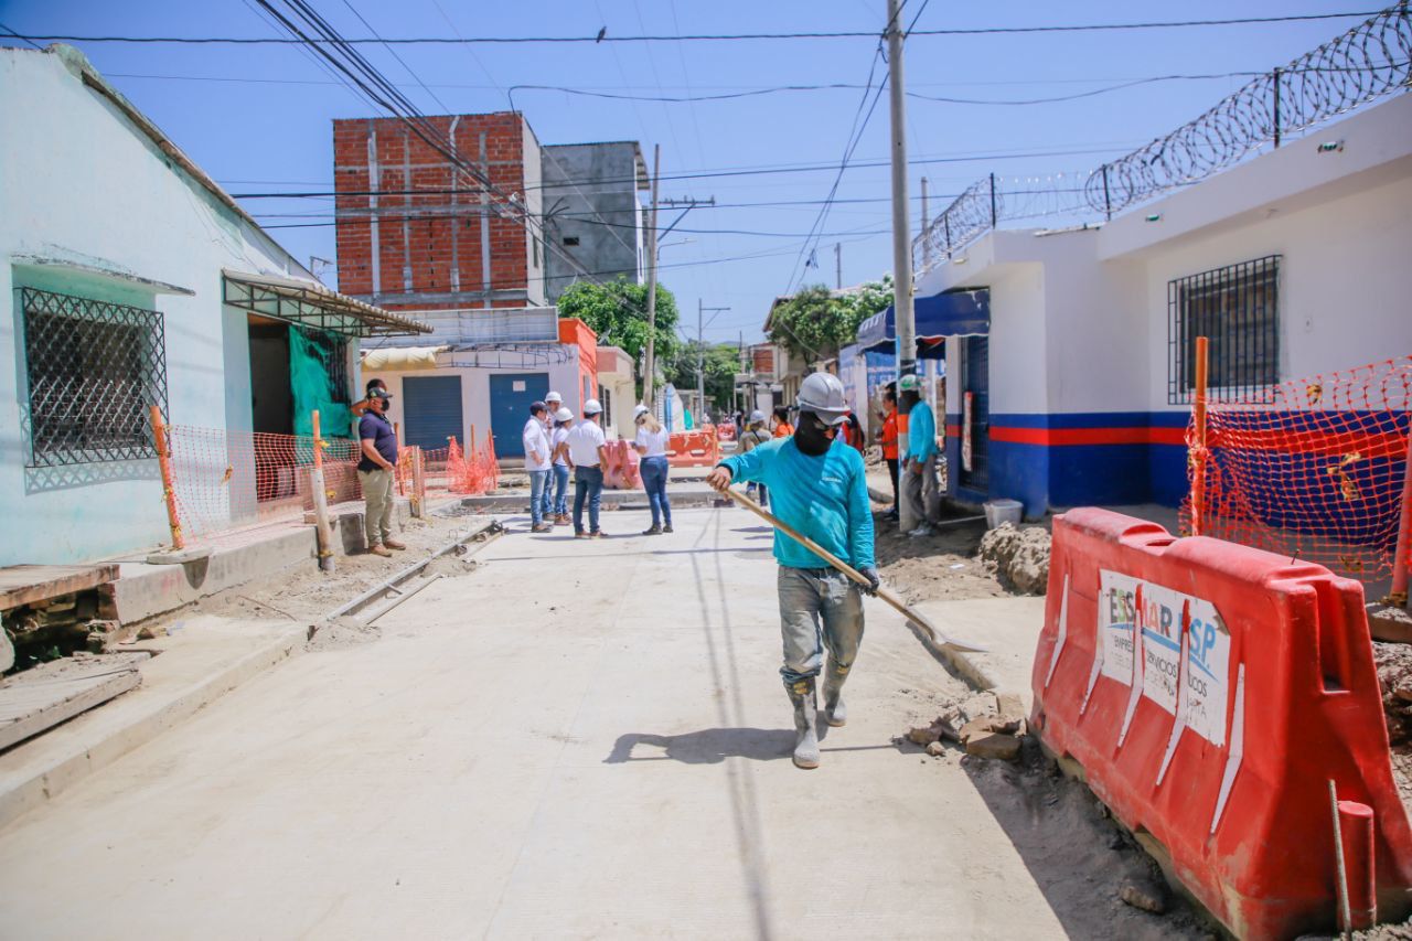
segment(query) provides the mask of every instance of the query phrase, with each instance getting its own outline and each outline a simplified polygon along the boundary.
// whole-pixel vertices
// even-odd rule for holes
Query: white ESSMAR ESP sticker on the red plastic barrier
[[[1123,685],[1139,675],[1145,698],[1173,716],[1180,702],[1182,725],[1211,745],[1226,745],[1231,634],[1216,605],[1131,575],[1110,571],[1099,575],[1103,675]],[[1142,637],[1139,673],[1132,670],[1134,633]],[[1185,698],[1178,695],[1179,684],[1185,687]]]

